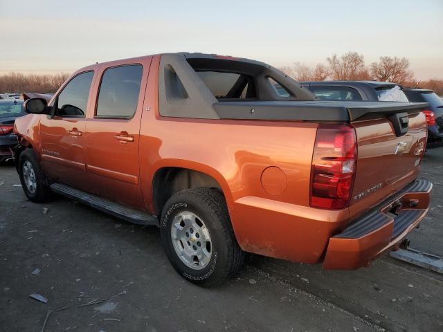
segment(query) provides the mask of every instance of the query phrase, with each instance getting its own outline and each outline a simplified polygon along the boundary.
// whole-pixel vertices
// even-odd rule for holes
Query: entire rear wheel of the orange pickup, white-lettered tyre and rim
[[[224,197],[216,189],[174,194],[161,214],[161,241],[175,270],[190,282],[216,286],[242,266]]]

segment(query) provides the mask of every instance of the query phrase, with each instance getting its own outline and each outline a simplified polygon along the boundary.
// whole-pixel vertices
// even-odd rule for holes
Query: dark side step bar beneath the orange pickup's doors
[[[102,199],[96,195],[88,194],[87,192],[82,192],[82,190],[75,189],[69,185],[64,185],[62,183],[53,183],[51,185],[51,190],[57,194],[73,199],[74,201],[79,201],[85,205],[89,205],[92,208],[96,208],[102,212],[111,214],[120,219],[129,221],[130,223],[136,223],[138,225],[156,225],[159,226],[159,219],[157,216],[152,214],[143,213],[138,210],[131,208],[126,208],[123,205],[109,201],[107,199]]]

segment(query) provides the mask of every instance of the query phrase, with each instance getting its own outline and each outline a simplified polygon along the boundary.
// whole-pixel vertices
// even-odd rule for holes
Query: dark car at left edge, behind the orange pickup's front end
[[[15,119],[27,113],[23,107],[23,100],[0,100],[0,162],[12,158],[12,147],[17,145],[17,136],[12,132]]]

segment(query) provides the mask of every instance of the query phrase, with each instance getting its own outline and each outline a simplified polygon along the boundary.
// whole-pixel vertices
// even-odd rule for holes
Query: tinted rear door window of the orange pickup
[[[142,75],[140,64],[108,68],[98,92],[96,117],[132,118],[137,109]]]

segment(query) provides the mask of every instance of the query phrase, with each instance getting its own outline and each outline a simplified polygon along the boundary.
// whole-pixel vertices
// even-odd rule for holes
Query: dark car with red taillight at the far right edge
[[[443,100],[433,90],[406,88],[403,91],[411,102],[429,103],[429,109],[423,111],[428,122],[428,142],[443,142]]]

